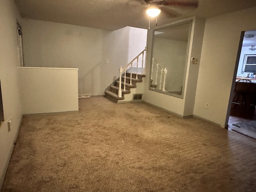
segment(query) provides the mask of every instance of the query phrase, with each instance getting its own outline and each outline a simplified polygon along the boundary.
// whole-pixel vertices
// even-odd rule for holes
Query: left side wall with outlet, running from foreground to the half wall
[[[16,19],[20,21],[14,1],[0,0],[0,81],[4,108],[4,122],[0,127],[0,188],[22,120]],[[12,126],[8,132],[10,116]]]

